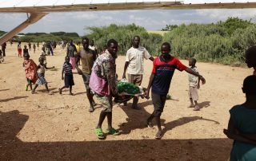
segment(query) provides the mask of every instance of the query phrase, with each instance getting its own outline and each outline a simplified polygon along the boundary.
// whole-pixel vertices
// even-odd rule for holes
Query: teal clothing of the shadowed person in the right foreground
[[[230,119],[239,132],[256,134],[256,109],[236,105],[230,109]],[[234,141],[230,161],[256,161],[256,145]]]

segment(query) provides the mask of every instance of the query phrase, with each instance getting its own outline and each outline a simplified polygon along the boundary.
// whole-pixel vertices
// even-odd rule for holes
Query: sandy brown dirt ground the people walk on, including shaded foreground
[[[22,43],[22,45],[25,45]],[[0,160],[226,160],[232,141],[222,130],[229,120],[229,109],[245,100],[242,81],[251,69],[198,63],[206,84],[199,89],[200,111],[194,112],[188,98],[188,76],[176,71],[170,85],[172,100],[162,113],[164,136],[154,139],[155,128],[146,128],[146,118],[153,112],[151,100],[139,100],[141,110],[114,104],[113,125],[122,135],[107,135],[98,140],[94,128],[101,106],[88,112],[82,77],[74,73],[75,96],[62,87],[62,64],[66,50],[57,49],[47,57],[46,80],[54,95],[44,86],[36,94],[25,91],[26,78],[17,45],[8,43],[4,63],[0,64]],[[41,50],[30,51],[38,63]],[[125,57],[118,57],[117,73],[122,76]],[[182,61],[188,65],[187,61]],[[146,87],[152,63],[145,61],[142,86]],[[96,99],[95,99],[96,100]],[[98,100],[96,100],[98,103]],[[106,120],[102,126],[106,129]]]

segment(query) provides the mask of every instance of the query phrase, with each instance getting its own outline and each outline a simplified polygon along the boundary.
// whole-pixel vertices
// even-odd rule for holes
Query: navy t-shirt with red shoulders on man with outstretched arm
[[[153,65],[154,81],[152,92],[159,95],[166,95],[169,92],[170,82],[174,76],[175,69],[183,71],[187,68],[176,57],[171,57],[170,61],[166,62],[162,56],[159,56],[154,59]]]

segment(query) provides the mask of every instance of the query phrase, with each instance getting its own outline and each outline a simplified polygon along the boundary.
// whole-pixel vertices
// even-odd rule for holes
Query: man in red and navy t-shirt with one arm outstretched
[[[166,103],[166,95],[169,92],[170,82],[174,76],[175,69],[179,71],[185,70],[187,73],[193,74],[199,77],[202,84],[205,84],[206,80],[195,73],[190,68],[183,65],[181,61],[176,57],[170,55],[170,43],[164,42],[161,46],[161,55],[154,59],[154,66],[150,76],[150,82],[146,89],[146,96],[149,96],[150,88],[152,95],[152,102],[154,104],[154,112],[147,119],[147,125],[149,128],[153,128],[152,120],[155,118],[158,125],[158,132],[155,135],[156,139],[162,138],[162,128],[160,123],[160,116]]]

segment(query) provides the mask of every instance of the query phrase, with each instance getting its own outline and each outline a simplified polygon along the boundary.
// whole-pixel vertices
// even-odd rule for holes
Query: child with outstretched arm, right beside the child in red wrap
[[[39,65],[37,67],[37,69],[38,69],[38,81],[36,82],[36,84],[34,86],[32,94],[34,93],[35,89],[38,88],[38,85],[43,85],[43,84],[46,86],[46,90],[49,93],[50,91],[49,91],[49,88],[47,86],[45,73],[46,73],[46,69],[54,69],[54,66],[51,67],[51,68],[47,68],[46,65],[43,64],[43,61],[44,61],[43,57],[39,57],[38,61],[39,61]]]

